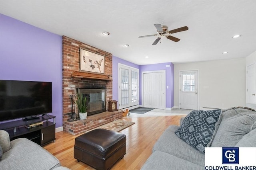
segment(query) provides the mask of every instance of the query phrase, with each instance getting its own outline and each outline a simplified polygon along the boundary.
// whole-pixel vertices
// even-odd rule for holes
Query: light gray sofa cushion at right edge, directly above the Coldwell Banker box
[[[244,135],[235,147],[256,147],[256,129]]]

